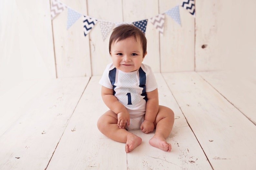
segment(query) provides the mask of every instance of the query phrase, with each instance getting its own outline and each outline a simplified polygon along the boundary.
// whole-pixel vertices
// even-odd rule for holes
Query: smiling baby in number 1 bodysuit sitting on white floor
[[[157,83],[151,68],[142,61],[147,54],[144,33],[134,25],[114,28],[109,40],[113,63],[107,65],[99,83],[101,95],[110,109],[98,120],[98,129],[107,137],[125,144],[125,152],[139,146],[142,139],[130,131],[150,133],[150,145],[170,152],[166,138],[172,131],[174,113],[159,106]],[[127,130],[126,130],[127,129]]]

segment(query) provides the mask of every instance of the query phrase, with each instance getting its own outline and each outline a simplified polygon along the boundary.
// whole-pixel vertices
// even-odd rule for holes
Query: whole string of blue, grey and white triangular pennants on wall
[[[194,0],[182,0],[181,6],[195,17],[195,1]],[[64,11],[65,8],[68,8],[67,29],[69,29],[83,14],[73,10],[72,8],[68,7],[67,5],[64,5],[62,2],[60,2],[60,0],[52,0],[52,3],[51,3],[51,18],[52,18],[52,20],[58,14],[60,14],[62,11]],[[179,5],[176,5],[175,7],[165,11],[162,14],[158,14],[149,19],[136,21],[136,22],[103,21],[103,20],[97,20],[96,18],[87,16],[87,15],[83,15],[84,36],[86,36],[87,34],[90,33],[90,31],[93,29],[94,25],[97,22],[100,22],[100,28],[101,28],[101,34],[102,34],[103,41],[105,41],[106,37],[111,32],[114,25],[118,26],[121,24],[133,24],[136,27],[138,27],[143,33],[145,33],[146,28],[147,28],[147,23],[148,23],[148,21],[150,21],[153,24],[153,26],[156,28],[156,30],[158,30],[160,34],[163,34],[165,14],[170,15],[174,21],[176,21],[178,24],[181,25]]]

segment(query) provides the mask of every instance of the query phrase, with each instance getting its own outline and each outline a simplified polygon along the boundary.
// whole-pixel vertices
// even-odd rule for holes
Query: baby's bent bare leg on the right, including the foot
[[[156,130],[154,136],[149,140],[150,145],[171,152],[172,145],[166,142],[166,138],[172,131],[174,123],[174,113],[171,109],[159,106],[159,111],[156,116]]]

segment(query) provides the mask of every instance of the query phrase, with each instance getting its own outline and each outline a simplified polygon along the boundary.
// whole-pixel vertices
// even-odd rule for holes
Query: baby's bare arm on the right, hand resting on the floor
[[[155,128],[154,121],[159,109],[158,90],[147,92],[147,98],[145,120],[141,124],[144,133],[152,132]]]

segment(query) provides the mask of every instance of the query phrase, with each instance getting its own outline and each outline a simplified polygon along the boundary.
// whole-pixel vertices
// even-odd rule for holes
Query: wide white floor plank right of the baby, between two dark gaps
[[[163,77],[212,167],[253,169],[256,126],[197,73],[164,73]]]

